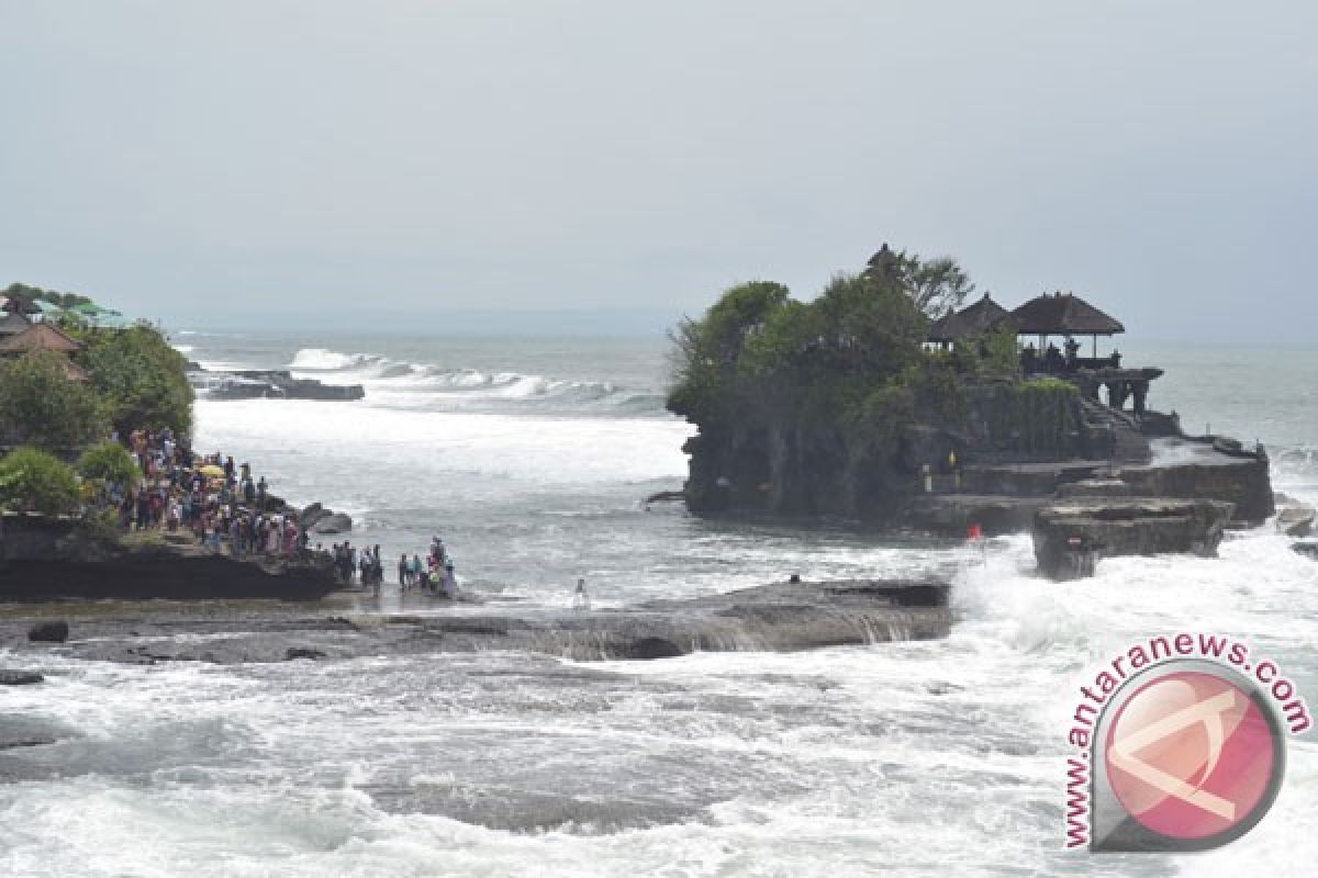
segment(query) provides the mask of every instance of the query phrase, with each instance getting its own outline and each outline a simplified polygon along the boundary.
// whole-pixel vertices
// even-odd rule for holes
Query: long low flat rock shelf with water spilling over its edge
[[[233,611],[231,611],[233,612]],[[659,600],[597,612],[521,606],[478,615],[107,620],[79,623],[65,648],[98,661],[153,663],[281,662],[357,656],[518,650],[580,661],[648,659],[695,650],[801,650],[945,637],[948,584],[878,581],[780,583],[689,600]],[[198,637],[198,634],[204,634]],[[0,642],[5,627],[0,623]]]

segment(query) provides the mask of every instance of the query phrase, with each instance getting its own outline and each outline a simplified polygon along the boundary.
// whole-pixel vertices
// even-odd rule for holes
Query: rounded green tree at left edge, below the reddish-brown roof
[[[0,365],[0,433],[47,449],[76,449],[105,432],[96,395],[69,361],[36,350]]]

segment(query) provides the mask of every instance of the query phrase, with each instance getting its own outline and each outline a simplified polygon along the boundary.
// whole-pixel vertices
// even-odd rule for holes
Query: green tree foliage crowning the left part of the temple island
[[[948,272],[956,288],[973,290],[954,262],[929,274]],[[913,276],[924,278],[923,286],[913,286]],[[921,307],[956,299],[940,288],[905,254],[859,275],[837,275],[808,303],[778,283],[733,287],[704,319],[684,320],[672,333],[668,408],[702,432],[837,428],[866,457],[890,455],[904,425],[963,412],[958,374],[1015,369],[1014,337],[1006,338],[1010,349],[991,340],[986,355],[974,346],[954,354],[924,349],[929,321]]]

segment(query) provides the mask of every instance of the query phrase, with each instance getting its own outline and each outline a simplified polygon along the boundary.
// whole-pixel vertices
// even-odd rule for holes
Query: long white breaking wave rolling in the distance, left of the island
[[[303,348],[289,369],[298,378],[327,384],[362,384],[368,396],[402,407],[435,403],[481,405],[498,403],[546,403],[569,408],[604,409],[612,413],[660,413],[663,395],[648,388],[623,387],[614,382],[571,380],[515,371],[444,369],[410,363],[380,354],[343,353]]]

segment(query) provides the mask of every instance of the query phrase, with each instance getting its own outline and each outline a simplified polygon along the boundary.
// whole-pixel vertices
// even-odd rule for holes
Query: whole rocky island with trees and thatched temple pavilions
[[[1090,561],[1211,554],[1224,525],[1275,513],[1263,448],[1188,436],[1148,405],[1161,369],[1098,355],[1118,320],[1061,292],[958,309],[973,290],[954,261],[884,245],[809,303],[755,282],[683,323],[668,408],[699,430],[687,507],[953,536],[1033,529],[1041,558],[1075,540]],[[1068,519],[1058,504],[1075,496],[1090,515]],[[1189,508],[1184,538],[1162,533],[1173,507]]]

